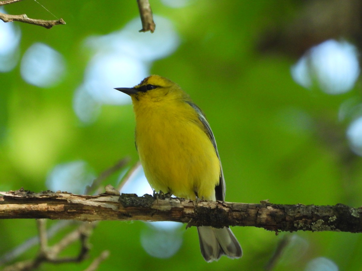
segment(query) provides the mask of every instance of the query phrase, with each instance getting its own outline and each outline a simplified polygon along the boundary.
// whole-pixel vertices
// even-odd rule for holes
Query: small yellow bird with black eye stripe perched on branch
[[[180,86],[158,75],[115,90],[131,96],[135,145],[155,192],[186,199],[224,201],[225,180],[214,134],[205,114]],[[197,227],[205,261],[243,250],[229,227]]]

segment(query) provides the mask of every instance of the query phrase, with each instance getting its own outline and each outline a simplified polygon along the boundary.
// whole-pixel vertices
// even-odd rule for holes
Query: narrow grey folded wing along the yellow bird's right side
[[[214,134],[212,133],[211,127],[209,122],[207,122],[206,116],[205,114],[202,112],[202,110],[194,103],[188,102],[190,104],[191,107],[193,107],[196,112],[198,113],[199,116],[199,120],[201,121],[201,123],[203,124],[203,126],[206,129],[206,132],[212,142],[212,145],[215,148],[215,152],[216,155],[219,158],[219,162],[220,162],[220,179],[219,179],[219,184],[216,185],[215,187],[215,195],[216,195],[216,199],[219,201],[224,201],[225,200],[225,190],[226,190],[226,185],[225,185],[225,179],[224,179],[224,173],[223,173],[223,167],[221,165],[221,161],[220,161],[220,156],[219,156],[219,152],[218,152],[218,147],[216,146],[216,141],[215,141],[215,137]]]

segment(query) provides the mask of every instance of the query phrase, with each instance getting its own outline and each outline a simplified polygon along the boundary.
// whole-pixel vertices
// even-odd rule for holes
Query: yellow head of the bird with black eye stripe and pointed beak
[[[189,99],[189,96],[181,90],[180,86],[159,75],[146,77],[134,87],[118,87],[115,89],[130,95],[134,104],[146,100],[148,102],[161,102]]]

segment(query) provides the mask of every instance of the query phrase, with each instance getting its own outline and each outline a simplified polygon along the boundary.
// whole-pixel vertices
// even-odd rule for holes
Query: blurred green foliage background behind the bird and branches
[[[88,126],[80,124],[72,109],[74,91],[90,59],[83,40],[121,29],[138,16],[136,1],[41,3],[67,24],[49,30],[16,23],[22,33],[21,54],[34,42],[48,44],[63,54],[67,74],[59,85],[46,89],[26,83],[20,65],[0,74],[1,191],[46,190],[47,173],[58,163],[81,159],[100,173],[125,156],[131,157],[131,164],[137,161],[131,105],[102,106],[101,115]],[[337,117],[342,102],[359,97],[360,84],[335,96],[306,90],[290,75],[296,58],[278,50],[257,50],[271,22],[287,24],[298,13],[299,1],[195,0],[182,8],[152,1],[151,5],[154,14],[174,23],[181,37],[176,52],[153,63],[151,73],[177,82],[206,113],[223,163],[227,201],[361,205],[362,161],[350,152],[346,141],[349,120],[338,121]],[[7,5],[6,10],[53,19],[30,0]],[[115,184],[116,179],[111,176],[105,184]],[[90,239],[93,248],[87,261],[45,264],[40,270],[84,270],[105,249],[110,257],[99,270],[263,270],[282,238],[293,235],[307,245],[297,242],[287,247],[274,270],[304,270],[316,257],[331,259],[340,270],[360,270],[362,265],[358,234],[276,236],[264,229],[234,227],[243,258],[223,257],[206,263],[195,228],[184,233],[176,255],[158,259],[140,244],[140,233],[146,227],[140,221],[102,221]],[[0,255],[37,234],[34,220],[0,220],[0,228]],[[61,237],[57,235],[51,244]],[[77,249],[74,245],[64,255],[75,254]],[[31,249],[20,260],[35,253]]]

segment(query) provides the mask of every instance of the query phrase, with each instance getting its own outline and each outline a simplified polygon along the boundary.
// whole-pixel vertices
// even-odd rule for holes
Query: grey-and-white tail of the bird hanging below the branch
[[[217,261],[223,254],[235,259],[243,255],[243,250],[230,228],[209,226],[197,227],[201,254],[205,261]]]

